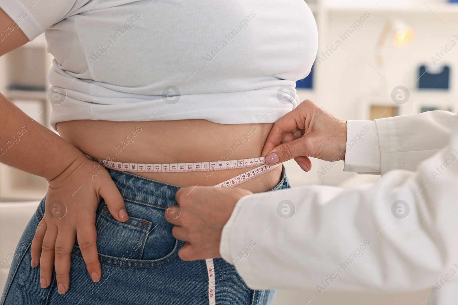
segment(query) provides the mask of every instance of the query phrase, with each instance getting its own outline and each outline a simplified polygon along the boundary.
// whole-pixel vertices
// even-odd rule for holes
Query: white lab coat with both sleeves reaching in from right
[[[245,196],[224,226],[222,257],[252,289],[402,292],[434,285],[432,299],[447,287],[456,291],[457,115],[347,122],[344,170],[382,173],[381,180]],[[284,200],[294,203],[289,219],[279,216],[293,212]]]

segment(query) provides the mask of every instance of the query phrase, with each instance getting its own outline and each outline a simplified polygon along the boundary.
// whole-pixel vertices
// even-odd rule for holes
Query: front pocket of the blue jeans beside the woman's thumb
[[[96,215],[97,250],[102,263],[131,268],[154,268],[178,256],[183,242],[172,235],[173,225],[164,217],[165,208],[124,198],[129,220],[120,222],[102,200]],[[79,247],[74,254],[81,256]]]

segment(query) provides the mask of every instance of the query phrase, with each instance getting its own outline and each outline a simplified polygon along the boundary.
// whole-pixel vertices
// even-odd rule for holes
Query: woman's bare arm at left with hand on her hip
[[[14,30],[8,31],[9,27]],[[9,32],[0,42],[0,56],[28,41],[1,9],[0,29]],[[108,171],[28,117],[1,94],[0,162],[44,177],[49,182],[46,213],[32,242],[32,267],[40,265],[41,287],[51,283],[54,266],[59,293],[68,290],[70,254],[76,237],[89,275],[97,282],[101,269],[95,246],[95,212],[100,197],[104,198],[115,219],[126,221],[129,218]],[[94,172],[97,173],[95,178]]]

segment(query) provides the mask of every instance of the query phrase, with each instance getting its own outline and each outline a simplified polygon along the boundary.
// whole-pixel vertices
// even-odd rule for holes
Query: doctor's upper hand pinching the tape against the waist
[[[273,124],[262,156],[269,165],[294,159],[304,171],[310,171],[308,157],[344,160],[346,142],[347,121],[305,100]]]

